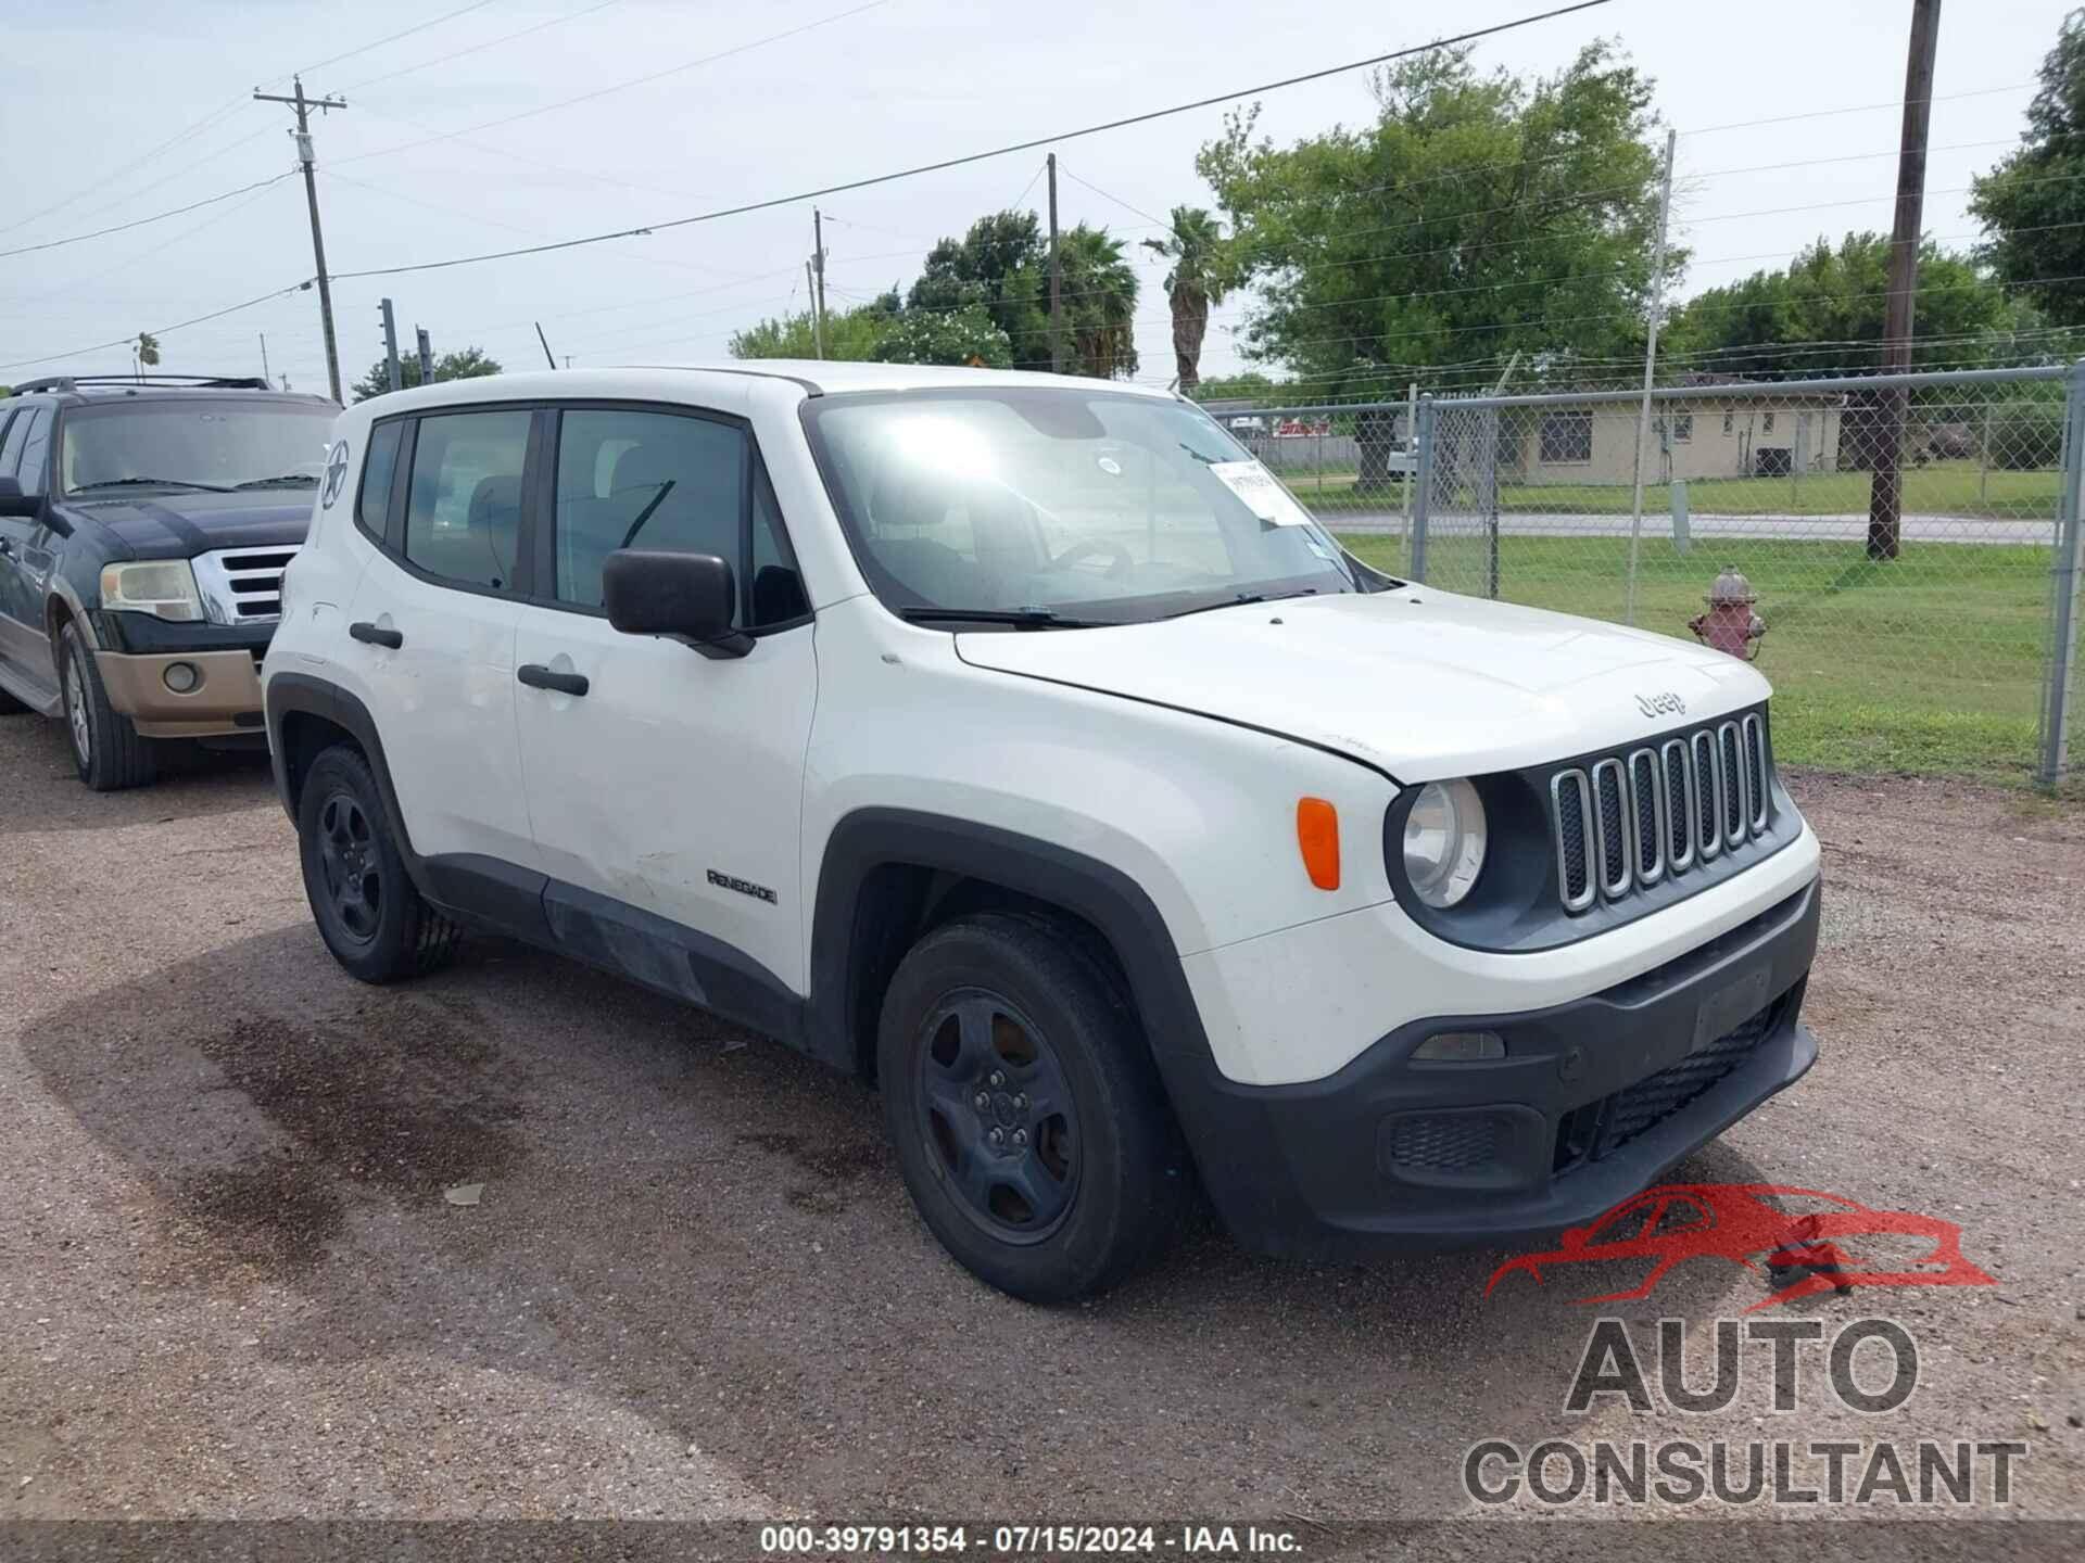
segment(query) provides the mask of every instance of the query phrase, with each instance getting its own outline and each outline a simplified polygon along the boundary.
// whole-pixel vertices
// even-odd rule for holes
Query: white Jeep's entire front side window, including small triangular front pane
[[[617,548],[728,559],[738,577],[738,625],[784,623],[809,611],[774,494],[736,423],[638,408],[561,415],[557,600],[598,609],[600,567]]]

